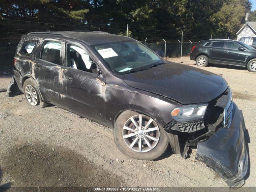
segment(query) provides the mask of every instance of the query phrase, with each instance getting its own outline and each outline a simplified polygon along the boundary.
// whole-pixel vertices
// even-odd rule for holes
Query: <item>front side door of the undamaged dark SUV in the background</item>
[[[246,50],[240,51],[238,50],[241,45],[236,42],[228,41],[226,42],[226,50],[225,50],[225,61],[227,64],[233,64],[238,66],[245,66],[247,52]]]

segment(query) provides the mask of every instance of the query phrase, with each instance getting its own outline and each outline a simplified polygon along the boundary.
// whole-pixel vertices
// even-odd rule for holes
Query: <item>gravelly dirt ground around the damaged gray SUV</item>
[[[189,58],[169,59],[194,65]],[[226,79],[243,111],[250,164],[245,186],[256,186],[256,73],[213,66]],[[11,76],[0,76],[0,89]],[[0,186],[227,186],[195,160],[172,154],[155,161],[135,160],[116,147],[113,130],[58,108],[32,107],[24,95],[0,92]]]

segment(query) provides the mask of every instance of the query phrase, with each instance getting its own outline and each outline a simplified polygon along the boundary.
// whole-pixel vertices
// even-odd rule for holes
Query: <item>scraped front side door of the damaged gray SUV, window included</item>
[[[91,120],[104,122],[106,85],[103,80],[99,80],[97,68],[84,46],[66,44],[66,67],[63,73],[68,86],[63,94],[71,98],[67,108]]]

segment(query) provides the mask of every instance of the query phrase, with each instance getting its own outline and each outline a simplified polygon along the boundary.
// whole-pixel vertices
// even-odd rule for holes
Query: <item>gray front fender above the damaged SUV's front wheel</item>
[[[106,118],[113,119],[111,127],[114,127],[115,119],[124,110],[133,110],[146,114],[164,127],[172,120],[170,112],[179,106],[178,103],[162,96],[133,88],[128,90],[126,88],[107,86],[105,95],[108,95]]]

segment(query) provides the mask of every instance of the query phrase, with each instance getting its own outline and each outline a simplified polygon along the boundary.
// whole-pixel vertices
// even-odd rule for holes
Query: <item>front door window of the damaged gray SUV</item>
[[[68,44],[66,58],[68,67],[89,73],[97,73],[97,66],[92,62],[89,53],[79,46]]]

